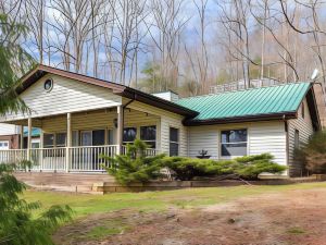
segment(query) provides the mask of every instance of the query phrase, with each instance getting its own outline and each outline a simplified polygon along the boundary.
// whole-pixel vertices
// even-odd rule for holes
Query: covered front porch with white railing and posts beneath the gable
[[[114,157],[126,152],[126,144],[145,140],[147,156],[161,148],[161,118],[143,110],[117,106],[99,110],[70,112],[50,117],[27,117],[9,121],[21,126],[20,149],[0,150],[0,162],[28,160],[29,171],[103,172],[112,162],[101,155]],[[28,127],[24,148],[24,127]],[[32,130],[40,128],[40,146],[33,148]]]

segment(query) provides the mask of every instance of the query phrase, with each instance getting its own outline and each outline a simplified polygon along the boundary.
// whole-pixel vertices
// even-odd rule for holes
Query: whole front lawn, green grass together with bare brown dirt
[[[58,244],[325,244],[326,183],[75,195],[25,193],[67,204],[75,222]]]

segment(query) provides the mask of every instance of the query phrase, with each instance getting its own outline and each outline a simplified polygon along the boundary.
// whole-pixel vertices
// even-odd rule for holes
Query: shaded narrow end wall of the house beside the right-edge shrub
[[[304,118],[302,117],[301,107],[304,106]],[[289,120],[288,122],[288,146],[289,146],[289,166],[290,176],[301,176],[304,172],[304,167],[301,162],[294,159],[294,132],[299,131],[299,142],[301,144],[306,143],[309,137],[314,133],[312,120],[310,117],[309,107],[306,100],[303,100],[303,105],[298,110],[298,119]]]

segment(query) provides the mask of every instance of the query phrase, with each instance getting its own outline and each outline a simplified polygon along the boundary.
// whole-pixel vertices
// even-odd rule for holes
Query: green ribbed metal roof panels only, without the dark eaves
[[[189,97],[176,103],[199,112],[192,121],[296,112],[310,87],[311,83],[291,83]]]

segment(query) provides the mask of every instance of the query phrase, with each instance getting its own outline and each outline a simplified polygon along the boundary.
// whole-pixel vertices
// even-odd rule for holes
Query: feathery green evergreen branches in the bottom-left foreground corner
[[[25,185],[12,174],[14,169],[13,164],[0,164],[0,244],[53,244],[51,232],[61,222],[71,220],[71,208],[52,206],[33,218],[40,204],[26,203],[21,197]]]

